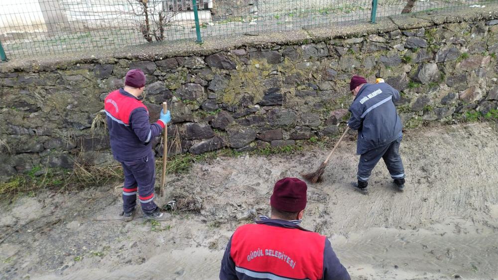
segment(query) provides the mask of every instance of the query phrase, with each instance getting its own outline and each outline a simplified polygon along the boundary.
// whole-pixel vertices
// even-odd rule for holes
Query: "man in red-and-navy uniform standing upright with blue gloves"
[[[136,208],[136,194],[145,219],[159,219],[162,213],[154,203],[155,165],[151,140],[159,136],[168,122],[169,111],[162,112],[156,123],[149,123],[149,112],[142,103],[145,75],[140,69],[126,73],[124,88],[105,99],[107,124],[114,158],[124,172],[123,216],[131,221]]]

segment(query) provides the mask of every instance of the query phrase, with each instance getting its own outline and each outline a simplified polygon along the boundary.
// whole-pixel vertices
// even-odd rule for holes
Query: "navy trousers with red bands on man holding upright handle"
[[[154,203],[155,165],[154,154],[136,160],[123,161],[124,187],[123,211],[129,213],[136,206],[136,194],[144,213],[157,208]]]

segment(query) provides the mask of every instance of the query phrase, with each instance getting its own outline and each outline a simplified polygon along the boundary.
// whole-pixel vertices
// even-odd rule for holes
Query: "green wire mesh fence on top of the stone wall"
[[[498,0],[1,1],[0,59],[375,23],[403,13],[497,3]]]

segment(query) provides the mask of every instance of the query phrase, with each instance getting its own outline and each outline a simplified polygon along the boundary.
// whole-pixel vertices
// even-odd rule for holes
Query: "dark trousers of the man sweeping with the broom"
[[[358,163],[358,181],[367,182],[372,174],[373,167],[377,165],[380,158],[384,159],[385,166],[393,179],[405,177],[403,161],[399,156],[399,144],[402,137],[392,141],[387,145],[369,150],[360,156]]]

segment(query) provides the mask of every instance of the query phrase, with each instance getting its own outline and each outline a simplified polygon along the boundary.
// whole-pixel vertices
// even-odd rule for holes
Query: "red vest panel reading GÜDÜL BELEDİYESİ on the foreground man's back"
[[[248,224],[232,237],[231,257],[236,271],[254,278],[268,273],[290,279],[323,278],[325,236],[318,233]]]

